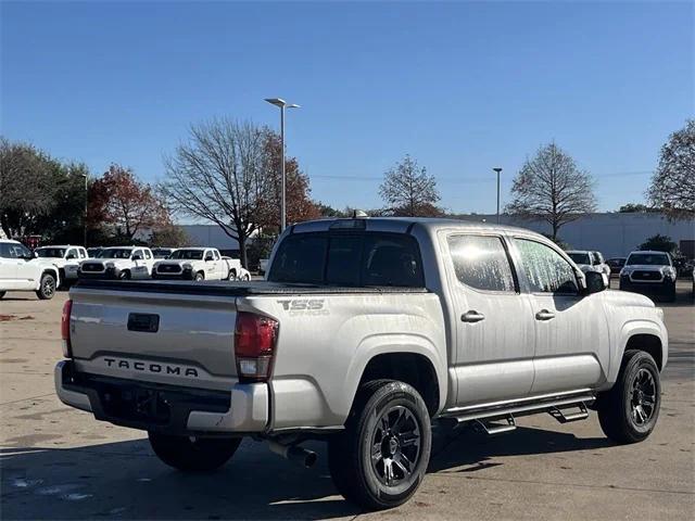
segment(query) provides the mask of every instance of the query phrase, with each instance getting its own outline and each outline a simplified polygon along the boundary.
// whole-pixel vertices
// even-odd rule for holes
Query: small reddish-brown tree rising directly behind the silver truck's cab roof
[[[440,196],[434,176],[409,155],[386,173],[379,193],[389,206],[387,213],[393,215],[432,217],[442,213],[435,206]]]

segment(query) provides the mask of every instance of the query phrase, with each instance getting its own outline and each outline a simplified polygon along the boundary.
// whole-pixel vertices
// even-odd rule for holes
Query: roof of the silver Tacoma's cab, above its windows
[[[497,225],[494,223],[476,223],[470,220],[452,219],[443,217],[356,217],[338,219],[307,220],[293,225],[291,232],[327,231],[331,228],[349,227],[348,223],[364,221],[364,229],[375,231],[393,231],[405,233],[413,225],[422,226],[430,230],[441,228],[462,228],[472,230],[497,230],[506,232],[523,232],[540,236],[526,228],[517,226]],[[362,228],[362,225],[355,228]],[[542,237],[542,236],[540,236]]]

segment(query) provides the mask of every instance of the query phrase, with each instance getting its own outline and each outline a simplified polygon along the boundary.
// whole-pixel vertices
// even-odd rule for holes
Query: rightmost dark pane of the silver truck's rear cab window
[[[425,287],[422,263],[415,239],[409,236],[365,236],[362,283]]]

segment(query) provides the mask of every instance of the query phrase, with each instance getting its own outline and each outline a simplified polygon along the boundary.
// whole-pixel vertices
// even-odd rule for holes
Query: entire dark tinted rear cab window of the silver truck
[[[349,287],[425,287],[415,238],[377,231],[289,236],[279,245],[268,280]]]

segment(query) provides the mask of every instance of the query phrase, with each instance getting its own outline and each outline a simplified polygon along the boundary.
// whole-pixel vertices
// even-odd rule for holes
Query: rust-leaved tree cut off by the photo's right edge
[[[695,119],[673,132],[661,148],[647,196],[669,218],[695,217]]]

